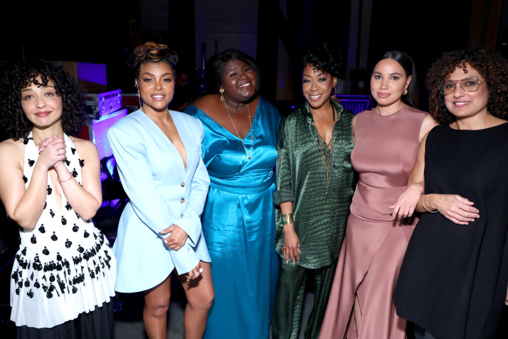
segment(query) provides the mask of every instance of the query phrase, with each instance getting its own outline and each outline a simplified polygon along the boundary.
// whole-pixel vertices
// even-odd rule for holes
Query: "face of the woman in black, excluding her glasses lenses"
[[[450,73],[447,80],[460,81],[464,78],[474,77],[484,81],[484,77],[469,64],[466,63],[467,73],[462,68],[456,68]],[[479,85],[478,89],[466,92],[458,83],[455,84],[453,93],[444,96],[444,104],[455,115],[457,120],[477,114],[488,114],[487,104],[489,102],[489,89],[486,82]]]

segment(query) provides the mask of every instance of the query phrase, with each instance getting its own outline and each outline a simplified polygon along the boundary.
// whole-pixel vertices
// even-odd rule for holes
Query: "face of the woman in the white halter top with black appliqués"
[[[37,81],[41,83],[41,77]],[[43,129],[61,123],[62,98],[56,94],[55,84],[51,80],[47,86],[29,83],[21,89],[21,108],[36,128]]]

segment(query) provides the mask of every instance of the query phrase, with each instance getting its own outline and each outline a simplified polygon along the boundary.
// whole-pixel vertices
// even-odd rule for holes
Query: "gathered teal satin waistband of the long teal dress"
[[[273,170],[251,170],[232,175],[208,172],[210,187],[234,194],[254,194],[266,191],[275,182]]]

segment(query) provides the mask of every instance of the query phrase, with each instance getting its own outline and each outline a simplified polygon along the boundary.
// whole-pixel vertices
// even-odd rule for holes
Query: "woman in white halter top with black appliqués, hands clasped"
[[[39,61],[0,84],[0,198],[19,226],[11,276],[18,338],[111,338],[116,264],[90,219],[101,206],[99,156],[76,135],[84,122],[77,82]]]

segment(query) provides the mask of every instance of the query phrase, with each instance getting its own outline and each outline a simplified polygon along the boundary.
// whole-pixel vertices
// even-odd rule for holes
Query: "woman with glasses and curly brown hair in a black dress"
[[[424,213],[400,269],[397,314],[417,338],[493,338],[508,283],[508,61],[444,53],[427,86],[442,125],[422,141],[415,183],[398,202]]]

